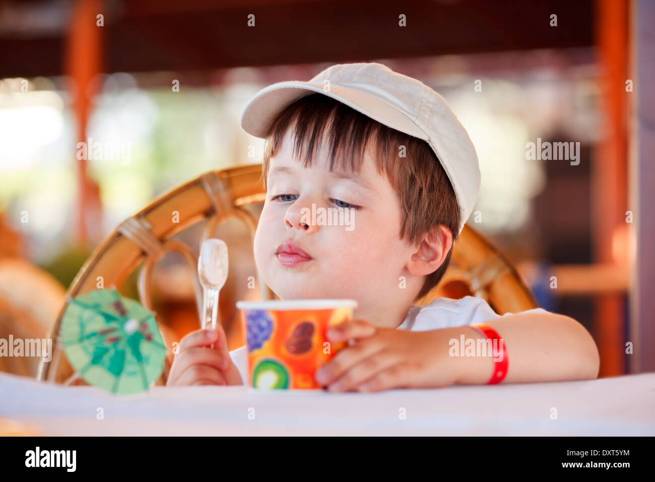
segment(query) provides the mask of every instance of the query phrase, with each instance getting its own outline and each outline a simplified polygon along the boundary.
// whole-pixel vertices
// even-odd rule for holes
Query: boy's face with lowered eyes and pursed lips
[[[350,298],[362,311],[388,306],[398,300],[400,291],[405,298],[407,290],[399,289],[399,277],[409,275],[405,265],[413,250],[399,238],[398,196],[386,176],[377,172],[368,151],[361,171],[352,178],[336,168],[330,172],[327,156],[322,146],[312,167],[303,168],[291,158],[287,134],[271,158],[254,241],[263,281],[283,300]],[[348,209],[350,205],[360,209]],[[338,218],[339,210],[343,224],[349,225],[326,225]],[[334,215],[321,221],[322,211]],[[349,217],[343,216],[345,211],[350,211]],[[307,256],[291,254],[286,242],[295,243]]]

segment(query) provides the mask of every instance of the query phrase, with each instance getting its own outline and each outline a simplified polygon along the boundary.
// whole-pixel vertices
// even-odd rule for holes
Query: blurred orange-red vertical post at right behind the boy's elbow
[[[628,7],[626,1],[597,1],[602,140],[591,171],[591,224],[593,258],[603,264],[614,262],[612,239],[626,224]],[[599,296],[595,311],[599,376],[624,374],[626,320],[622,296]]]

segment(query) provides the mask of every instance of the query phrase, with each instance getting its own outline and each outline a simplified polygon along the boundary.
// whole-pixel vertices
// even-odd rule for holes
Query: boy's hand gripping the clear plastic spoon
[[[214,348],[210,348],[212,343]],[[242,384],[220,326],[192,331],[182,338],[166,380],[166,386]]]

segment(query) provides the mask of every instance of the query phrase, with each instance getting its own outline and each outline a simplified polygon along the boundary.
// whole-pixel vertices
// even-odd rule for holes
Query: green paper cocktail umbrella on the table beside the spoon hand
[[[164,370],[166,347],[155,316],[116,289],[72,298],[60,334],[73,369],[109,392],[142,392]]]

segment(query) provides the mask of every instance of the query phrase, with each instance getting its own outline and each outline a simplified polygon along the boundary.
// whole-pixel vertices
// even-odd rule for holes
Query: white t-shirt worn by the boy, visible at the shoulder
[[[522,313],[548,313],[548,311],[543,308],[533,308],[533,310],[522,311]],[[511,314],[505,313],[503,316]],[[409,308],[405,320],[396,330],[430,331],[440,328],[474,325],[496,318],[500,318],[500,315],[492,310],[491,306],[482,298],[475,298],[474,296],[464,296],[464,298],[458,300],[435,298],[426,306],[415,305]],[[242,346],[230,351],[230,356],[241,375],[241,379],[246,383],[246,380],[248,380],[248,353],[246,347]]]

